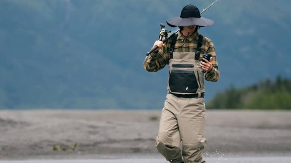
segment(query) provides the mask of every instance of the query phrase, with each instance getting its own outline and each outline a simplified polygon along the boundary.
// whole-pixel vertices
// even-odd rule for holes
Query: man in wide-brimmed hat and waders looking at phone
[[[198,33],[200,27],[210,26],[212,20],[200,16],[194,5],[185,6],[180,17],[167,21],[180,31],[163,44],[155,41],[158,50],[146,57],[143,66],[156,72],[169,65],[168,94],[161,113],[158,151],[171,163],[205,163],[202,151],[206,145],[204,79],[219,79],[218,64],[213,42]],[[202,59],[210,53],[210,61]],[[205,62],[202,62],[204,60]],[[179,144],[182,141],[183,149]]]

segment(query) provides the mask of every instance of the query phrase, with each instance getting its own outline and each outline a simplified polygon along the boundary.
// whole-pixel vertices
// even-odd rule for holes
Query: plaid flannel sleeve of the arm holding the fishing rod
[[[166,44],[168,46],[168,44]],[[143,62],[143,68],[148,72],[156,72],[164,68],[168,64],[167,53],[165,53],[165,47],[162,47],[158,53],[152,53],[146,56]]]

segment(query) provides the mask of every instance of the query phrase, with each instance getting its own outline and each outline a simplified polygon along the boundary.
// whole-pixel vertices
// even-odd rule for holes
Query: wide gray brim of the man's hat
[[[166,21],[167,24],[170,27],[185,27],[185,26],[190,26],[190,25],[197,25],[200,27],[206,27],[206,26],[211,26],[212,24],[214,24],[213,20],[207,19],[207,18],[194,18],[194,17],[190,17],[190,18],[181,18],[181,17],[177,17],[177,18],[173,18],[170,19],[168,21]]]

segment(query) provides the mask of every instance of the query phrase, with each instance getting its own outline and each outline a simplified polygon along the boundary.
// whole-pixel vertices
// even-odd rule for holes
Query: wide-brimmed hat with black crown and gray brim
[[[190,25],[206,27],[214,24],[214,21],[201,17],[200,11],[196,6],[187,5],[182,9],[179,17],[168,20],[167,24],[170,27],[185,27]]]

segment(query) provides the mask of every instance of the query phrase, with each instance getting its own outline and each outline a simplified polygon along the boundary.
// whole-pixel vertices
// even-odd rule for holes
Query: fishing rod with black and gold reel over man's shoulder
[[[214,4],[216,4],[219,0],[216,0],[214,2],[212,2],[208,7],[203,8],[203,10],[200,12],[200,14],[202,14],[203,12],[205,12],[206,10],[208,10],[211,6],[213,6]],[[161,26],[161,31],[160,31],[160,36],[159,36],[159,40],[162,41],[163,43],[167,42],[170,38],[174,37],[175,34],[177,32],[179,32],[180,29],[175,30],[172,34],[170,34],[170,36],[168,37],[168,33],[171,33],[171,30],[165,30],[164,24],[160,24]],[[158,49],[158,46],[155,46],[154,48],[152,48],[148,53],[146,53],[146,56],[150,55],[152,52],[154,52],[155,50]]]

